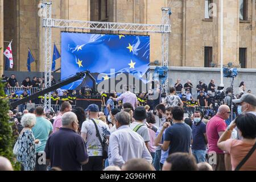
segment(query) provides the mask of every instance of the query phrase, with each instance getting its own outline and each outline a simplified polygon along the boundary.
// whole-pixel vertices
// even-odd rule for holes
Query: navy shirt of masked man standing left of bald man
[[[192,136],[193,136],[192,149],[193,150],[206,150],[204,133],[206,133],[205,123],[201,121],[199,123],[193,122],[193,125],[192,125]]]

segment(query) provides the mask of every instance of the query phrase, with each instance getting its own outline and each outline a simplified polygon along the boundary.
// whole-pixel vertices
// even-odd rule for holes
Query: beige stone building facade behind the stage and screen
[[[224,64],[256,68],[256,0],[224,0]],[[54,0],[52,18],[125,23],[162,23],[162,7],[171,7],[169,61],[174,67],[220,66],[220,0]],[[38,0],[0,0],[1,55],[13,39],[14,71],[27,71],[27,52],[44,71],[44,29]],[[52,44],[61,51],[60,31],[52,29]],[[92,31],[93,32],[93,31]],[[105,32],[109,33],[109,32]],[[133,34],[133,33],[131,33]],[[151,36],[151,63],[161,63],[161,35]],[[240,65],[241,63],[241,65]],[[1,70],[4,57],[0,56]],[[56,68],[60,67],[60,61]],[[2,71],[1,71],[2,72]]]

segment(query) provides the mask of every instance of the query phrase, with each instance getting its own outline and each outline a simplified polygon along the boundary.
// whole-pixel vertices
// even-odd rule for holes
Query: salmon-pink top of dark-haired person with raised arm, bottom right
[[[231,157],[232,170],[245,158],[254,144],[245,143],[242,140],[228,139],[225,141],[225,151]],[[240,171],[256,171],[256,151],[250,156]]]

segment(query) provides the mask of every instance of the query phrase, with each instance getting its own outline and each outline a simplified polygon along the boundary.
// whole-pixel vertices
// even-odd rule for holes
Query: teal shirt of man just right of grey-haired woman
[[[36,148],[36,152],[44,151],[47,139],[52,130],[53,126],[50,121],[43,117],[36,117],[36,124],[32,128],[32,132],[35,139],[39,139],[41,142],[40,146]]]

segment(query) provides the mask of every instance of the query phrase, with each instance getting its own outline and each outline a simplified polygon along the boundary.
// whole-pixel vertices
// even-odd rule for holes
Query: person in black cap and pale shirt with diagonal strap
[[[134,111],[133,118],[135,121],[131,123],[130,129],[141,135],[148,148],[150,135],[148,133],[147,126],[144,124],[144,121],[147,118],[146,109],[143,106],[137,107]]]

